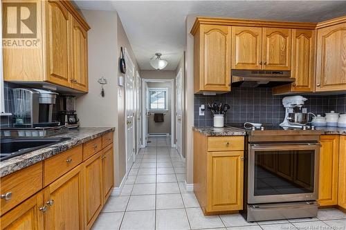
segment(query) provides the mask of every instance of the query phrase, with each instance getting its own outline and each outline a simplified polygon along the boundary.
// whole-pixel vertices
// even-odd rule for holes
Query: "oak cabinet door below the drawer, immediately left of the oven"
[[[243,209],[244,152],[208,152],[207,211]]]

